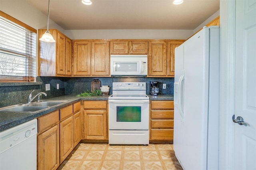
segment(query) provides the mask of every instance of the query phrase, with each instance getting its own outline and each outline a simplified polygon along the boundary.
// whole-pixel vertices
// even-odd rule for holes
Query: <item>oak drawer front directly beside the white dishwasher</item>
[[[38,117],[38,133],[41,133],[52,127],[52,125],[57,124],[59,121],[59,111],[54,111],[42,117]]]

